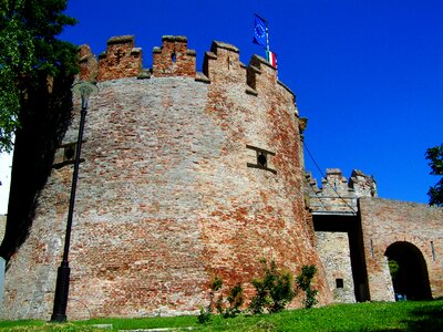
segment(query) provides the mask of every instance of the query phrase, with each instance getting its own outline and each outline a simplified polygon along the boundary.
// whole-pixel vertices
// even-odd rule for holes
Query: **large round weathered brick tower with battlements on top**
[[[293,273],[315,263],[330,294],[302,195],[295,95],[276,69],[214,42],[203,72],[184,37],[164,37],[142,69],[133,37],[99,58],[81,49],[90,101],[70,252],[69,319],[196,313],[208,286],[259,276],[274,259]],[[39,199],[30,236],[9,262],[3,317],[52,312],[75,148],[74,120]],[[83,160],[84,159],[84,160]]]

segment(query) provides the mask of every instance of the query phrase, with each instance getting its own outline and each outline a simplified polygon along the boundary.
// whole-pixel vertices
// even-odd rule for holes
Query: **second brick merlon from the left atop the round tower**
[[[107,40],[106,51],[99,56],[97,81],[136,77],[142,70],[142,49],[135,48],[133,35]]]

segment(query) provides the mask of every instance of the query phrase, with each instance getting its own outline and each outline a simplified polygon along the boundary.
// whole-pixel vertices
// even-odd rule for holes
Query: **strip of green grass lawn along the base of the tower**
[[[101,330],[94,324],[112,324]],[[119,331],[154,328],[192,328],[193,331],[443,331],[443,300],[396,303],[337,304],[288,310],[276,314],[223,319],[208,324],[196,317],[152,319],[95,319],[68,324],[42,321],[0,321],[0,331]]]

